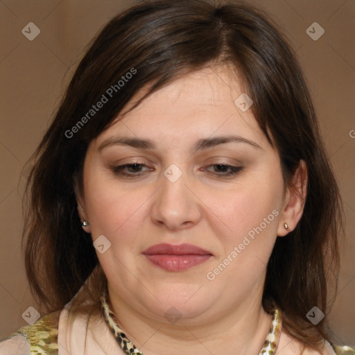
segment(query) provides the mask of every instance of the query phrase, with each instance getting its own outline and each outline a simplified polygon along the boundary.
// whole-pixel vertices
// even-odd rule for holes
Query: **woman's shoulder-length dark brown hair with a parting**
[[[61,309],[91,275],[73,306],[85,311],[79,304],[92,300],[98,309],[105,275],[76,210],[87,147],[139,89],[149,87],[134,107],[211,64],[227,64],[242,76],[255,119],[281,157],[285,184],[300,159],[308,167],[304,213],[295,230],[275,243],[263,307],[271,313],[276,302],[284,311],[284,329],[319,349],[322,338],[328,339],[326,322],[313,325],[306,313],[318,306],[327,315],[327,279],[337,277],[343,207],[295,55],[265,14],[239,1],[147,1],[114,17],[98,34],[33,157],[24,228],[32,291],[46,311]],[[119,80],[133,71],[121,87]],[[78,125],[109,88],[112,99]]]

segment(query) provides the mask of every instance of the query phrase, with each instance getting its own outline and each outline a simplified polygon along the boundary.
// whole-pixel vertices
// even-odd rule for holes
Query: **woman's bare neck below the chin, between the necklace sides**
[[[272,316],[261,306],[261,294],[247,298],[232,312],[218,312],[211,322],[179,320],[175,324],[137,313],[109,286],[110,308],[126,336],[144,355],[259,354]]]

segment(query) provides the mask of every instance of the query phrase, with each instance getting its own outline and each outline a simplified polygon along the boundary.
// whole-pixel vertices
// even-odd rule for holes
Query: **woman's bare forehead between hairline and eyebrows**
[[[251,110],[243,112],[235,103],[243,93],[241,80],[226,67],[201,69],[151,94],[123,118],[119,116],[98,141],[129,135],[155,141],[164,138],[171,145],[190,140],[192,144],[200,138],[234,133],[268,144]],[[125,109],[143,94],[144,89]]]

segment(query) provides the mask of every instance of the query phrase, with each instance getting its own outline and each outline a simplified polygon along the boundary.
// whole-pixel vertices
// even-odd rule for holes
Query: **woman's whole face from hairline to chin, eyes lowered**
[[[166,322],[260,303],[276,236],[286,234],[284,182],[241,94],[226,69],[203,69],[90,144],[80,202],[117,302]]]

